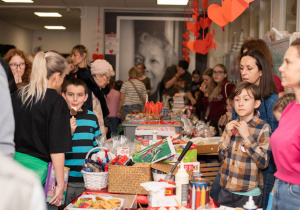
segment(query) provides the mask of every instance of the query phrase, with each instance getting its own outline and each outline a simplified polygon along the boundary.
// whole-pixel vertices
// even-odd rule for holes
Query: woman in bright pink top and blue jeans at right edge
[[[282,85],[292,88],[296,100],[283,111],[278,128],[271,136],[277,178],[272,209],[300,207],[300,39],[293,41],[280,66]]]

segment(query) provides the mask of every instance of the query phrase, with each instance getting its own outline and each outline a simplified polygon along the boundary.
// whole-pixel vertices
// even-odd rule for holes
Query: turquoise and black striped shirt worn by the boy
[[[97,146],[95,137],[101,134],[96,115],[87,109],[77,113],[76,125],[72,152],[65,154],[65,166],[70,168],[69,182],[83,182],[81,169],[85,156]]]

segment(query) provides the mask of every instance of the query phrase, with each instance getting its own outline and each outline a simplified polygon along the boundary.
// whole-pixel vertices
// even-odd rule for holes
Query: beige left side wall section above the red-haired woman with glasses
[[[14,45],[25,53],[31,53],[33,31],[0,20],[0,44]]]

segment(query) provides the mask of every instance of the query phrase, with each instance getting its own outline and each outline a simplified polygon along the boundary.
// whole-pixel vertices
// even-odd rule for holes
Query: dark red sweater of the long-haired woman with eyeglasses
[[[226,85],[226,83],[228,83]],[[210,103],[210,111],[208,115],[208,121],[211,120],[219,120],[221,115],[226,113],[226,95],[225,95],[225,85],[226,85],[226,93],[227,97],[230,96],[233,88],[235,87],[234,84],[229,83],[228,80],[225,80],[222,84],[221,92],[211,101]],[[202,99],[202,103],[204,106],[204,116],[207,111],[209,101],[207,97]]]

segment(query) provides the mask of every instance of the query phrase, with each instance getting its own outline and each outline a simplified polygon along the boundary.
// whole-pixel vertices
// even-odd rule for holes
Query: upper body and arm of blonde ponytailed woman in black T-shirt
[[[57,93],[67,69],[61,55],[39,52],[29,84],[12,94],[16,152],[53,163],[57,186],[49,204],[55,206],[63,200],[65,152],[72,150],[69,109]]]

